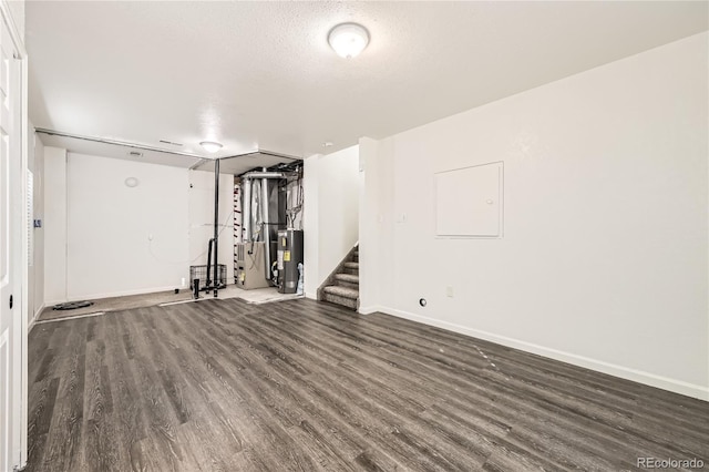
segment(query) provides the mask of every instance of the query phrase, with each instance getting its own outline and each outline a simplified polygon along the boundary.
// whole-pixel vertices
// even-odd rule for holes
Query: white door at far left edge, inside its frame
[[[0,471],[20,462],[22,158],[19,61],[0,19]]]

